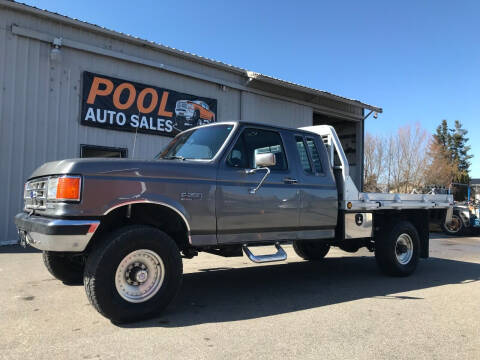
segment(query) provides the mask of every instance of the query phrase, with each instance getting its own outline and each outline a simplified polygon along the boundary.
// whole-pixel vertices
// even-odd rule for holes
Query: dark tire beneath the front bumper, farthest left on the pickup
[[[44,251],[42,257],[45,267],[55,279],[66,285],[82,284],[85,262],[81,256]]]

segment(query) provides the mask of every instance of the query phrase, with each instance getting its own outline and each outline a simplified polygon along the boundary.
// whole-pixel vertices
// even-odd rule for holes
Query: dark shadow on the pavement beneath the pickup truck
[[[373,257],[331,257],[184,275],[182,289],[160,318],[137,327],[184,327],[290,313],[365,298],[422,301],[395,295],[448,284],[480,280],[480,264],[430,258],[414,275],[391,278],[379,273]]]

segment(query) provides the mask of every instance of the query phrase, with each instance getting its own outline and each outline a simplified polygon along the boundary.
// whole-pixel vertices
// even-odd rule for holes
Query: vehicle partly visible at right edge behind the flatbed
[[[445,222],[442,230],[450,236],[480,234],[480,202],[456,203],[453,207],[452,221]]]

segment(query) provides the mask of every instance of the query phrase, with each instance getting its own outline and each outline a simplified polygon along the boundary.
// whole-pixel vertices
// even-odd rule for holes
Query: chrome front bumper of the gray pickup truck
[[[20,244],[43,251],[82,252],[100,225],[98,220],[65,220],[20,213],[15,216]]]

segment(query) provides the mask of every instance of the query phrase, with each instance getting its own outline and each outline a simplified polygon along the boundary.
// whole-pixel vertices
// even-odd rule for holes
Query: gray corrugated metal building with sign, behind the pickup
[[[22,208],[23,184],[44,162],[80,156],[150,159],[178,130],[199,121],[330,124],[361,187],[364,121],[382,112],[5,0],[0,0],[0,85],[3,244],[16,241],[13,217]]]

